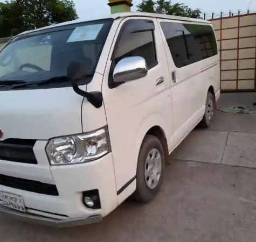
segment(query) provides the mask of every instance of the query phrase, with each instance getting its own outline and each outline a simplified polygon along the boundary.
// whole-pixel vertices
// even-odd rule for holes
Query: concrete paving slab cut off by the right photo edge
[[[222,163],[256,168],[256,134],[230,132]]]

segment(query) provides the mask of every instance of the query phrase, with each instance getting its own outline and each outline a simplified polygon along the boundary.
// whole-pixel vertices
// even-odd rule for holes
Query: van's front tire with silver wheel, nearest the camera
[[[148,203],[157,195],[163,183],[164,163],[160,140],[147,135],[141,145],[137,163],[137,187],[133,194],[135,201]]]

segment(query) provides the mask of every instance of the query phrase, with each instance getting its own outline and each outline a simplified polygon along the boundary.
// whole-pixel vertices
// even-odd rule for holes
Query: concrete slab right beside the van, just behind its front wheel
[[[171,154],[171,158],[220,164],[227,134],[216,131],[193,131]]]

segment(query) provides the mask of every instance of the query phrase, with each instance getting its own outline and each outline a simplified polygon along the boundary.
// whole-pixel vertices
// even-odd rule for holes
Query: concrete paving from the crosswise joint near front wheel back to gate
[[[217,109],[250,106],[254,93],[223,94]],[[251,115],[218,111],[213,126],[195,129],[171,154],[172,159],[256,168],[256,113]]]

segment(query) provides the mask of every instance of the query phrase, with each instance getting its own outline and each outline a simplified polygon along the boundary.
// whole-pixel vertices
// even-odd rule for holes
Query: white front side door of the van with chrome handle
[[[153,126],[172,134],[172,106],[166,55],[154,18],[125,18],[117,29],[102,84],[110,143],[121,203],[136,188],[136,168],[142,140]],[[113,69],[121,59],[142,56],[148,74],[116,85]],[[163,82],[157,82],[157,80]]]

